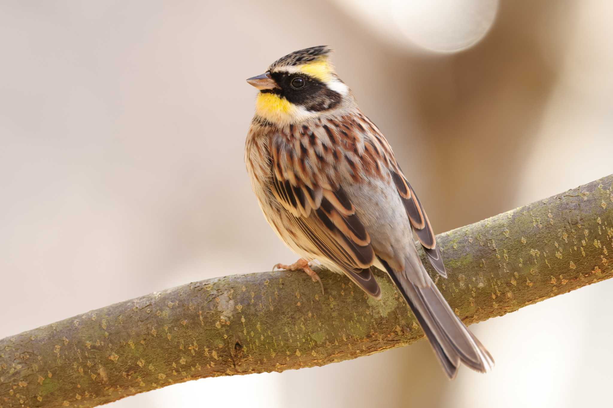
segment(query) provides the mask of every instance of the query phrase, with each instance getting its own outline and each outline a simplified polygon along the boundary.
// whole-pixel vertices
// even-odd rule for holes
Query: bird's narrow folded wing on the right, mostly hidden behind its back
[[[390,169],[390,173],[392,174],[392,179],[402,199],[402,203],[405,206],[406,215],[409,217],[411,226],[413,226],[417,234],[417,239],[422,247],[424,247],[430,264],[432,264],[439,275],[446,278],[447,272],[445,270],[445,265],[443,265],[443,258],[441,258],[441,253],[436,246],[436,237],[432,231],[432,226],[430,225],[430,221],[428,221],[428,216],[424,211],[421,201],[419,201],[413,187],[411,187],[404,174],[402,174],[400,167],[397,165],[394,166],[394,168]]]

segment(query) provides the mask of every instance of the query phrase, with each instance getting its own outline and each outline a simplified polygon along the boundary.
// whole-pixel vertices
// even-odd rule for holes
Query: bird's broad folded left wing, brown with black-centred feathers
[[[310,244],[305,250],[317,248],[321,256],[338,265],[357,286],[375,298],[381,297],[379,284],[370,272],[375,261],[370,236],[338,184],[335,169],[313,171],[317,159],[309,160],[300,139],[287,143],[283,135],[277,135],[271,138],[269,146],[270,190],[294,216],[291,222]],[[296,244],[300,245],[300,240]]]

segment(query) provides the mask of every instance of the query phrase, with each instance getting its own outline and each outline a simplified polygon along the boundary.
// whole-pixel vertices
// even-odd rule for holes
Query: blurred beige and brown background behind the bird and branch
[[[613,172],[613,2],[373,3],[2,1],[0,338],[295,261],[243,164],[245,78],[307,46],[335,48],[436,232]],[[421,341],[112,406],[603,406],[612,292],[473,325],[497,361],[485,376],[447,381]]]

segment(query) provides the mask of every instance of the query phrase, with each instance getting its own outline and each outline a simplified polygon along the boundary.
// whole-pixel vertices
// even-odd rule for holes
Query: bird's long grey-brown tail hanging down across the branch
[[[413,310],[450,379],[455,377],[460,362],[480,373],[492,369],[492,355],[455,315],[429,277],[425,287],[417,286],[408,277],[411,273],[394,272],[383,259],[379,261]]]

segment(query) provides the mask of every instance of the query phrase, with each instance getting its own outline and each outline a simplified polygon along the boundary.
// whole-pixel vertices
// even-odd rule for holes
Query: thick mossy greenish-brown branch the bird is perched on
[[[467,324],[613,276],[613,175],[437,236]],[[427,262],[424,262],[428,264]],[[93,407],[176,382],[283,371],[422,338],[384,273],[264,272],[156,292],[0,340],[0,407]]]

